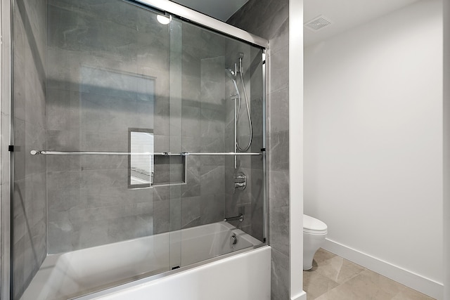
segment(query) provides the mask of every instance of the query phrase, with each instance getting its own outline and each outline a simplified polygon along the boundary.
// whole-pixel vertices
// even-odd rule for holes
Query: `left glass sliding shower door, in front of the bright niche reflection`
[[[14,299],[179,266],[176,28],[122,0],[15,3]]]

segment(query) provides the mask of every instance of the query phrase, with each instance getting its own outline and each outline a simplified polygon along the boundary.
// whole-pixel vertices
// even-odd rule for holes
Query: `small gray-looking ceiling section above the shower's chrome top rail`
[[[228,20],[248,0],[171,0],[221,21]]]

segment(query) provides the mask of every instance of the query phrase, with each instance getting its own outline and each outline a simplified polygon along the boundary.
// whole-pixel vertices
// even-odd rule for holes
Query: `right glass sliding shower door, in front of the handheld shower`
[[[257,46],[181,25],[180,239],[187,266],[264,242],[264,57]]]

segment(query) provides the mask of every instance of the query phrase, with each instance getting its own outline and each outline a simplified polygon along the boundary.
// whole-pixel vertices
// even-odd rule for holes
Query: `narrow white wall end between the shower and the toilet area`
[[[306,300],[303,291],[303,0],[289,1],[289,271],[290,299]],[[300,217],[299,217],[300,216]]]

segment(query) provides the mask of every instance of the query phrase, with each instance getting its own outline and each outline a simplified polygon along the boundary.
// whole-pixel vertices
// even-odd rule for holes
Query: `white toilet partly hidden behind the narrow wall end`
[[[312,259],[325,242],[326,233],[326,223],[312,216],[303,215],[303,270],[312,268]]]

